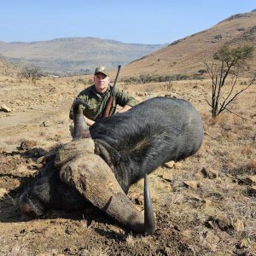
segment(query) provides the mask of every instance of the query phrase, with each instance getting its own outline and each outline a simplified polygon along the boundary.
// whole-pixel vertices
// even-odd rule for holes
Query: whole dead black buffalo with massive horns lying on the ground
[[[187,101],[155,97],[128,112],[100,119],[89,130],[80,104],[84,103],[73,103],[73,141],[56,153],[47,178],[43,175],[38,184],[20,196],[21,211],[38,216],[55,204],[75,208],[81,205],[82,196],[128,229],[153,233],[147,174],[167,161],[184,159],[201,147],[200,114]],[[145,216],[126,195],[131,184],[142,177]]]

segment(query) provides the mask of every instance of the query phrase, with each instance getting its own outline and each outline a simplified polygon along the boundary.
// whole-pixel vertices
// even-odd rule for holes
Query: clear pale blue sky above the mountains
[[[255,0],[2,0],[0,41],[95,37],[167,44],[253,9]]]

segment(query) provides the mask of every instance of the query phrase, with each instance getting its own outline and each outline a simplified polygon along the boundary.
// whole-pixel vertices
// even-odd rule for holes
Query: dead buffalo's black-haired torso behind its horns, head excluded
[[[90,127],[96,145],[106,148],[111,160],[100,154],[122,189],[128,191],[145,173],[170,160],[181,160],[201,146],[201,116],[192,105],[176,98],[156,97],[125,113],[101,119]]]

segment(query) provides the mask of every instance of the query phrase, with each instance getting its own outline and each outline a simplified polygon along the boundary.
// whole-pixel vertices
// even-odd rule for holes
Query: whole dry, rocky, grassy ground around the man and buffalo
[[[256,255],[256,89],[211,119],[207,81],[120,84],[139,101],[152,96],[189,100],[204,121],[201,149],[149,176],[157,230],[124,230],[95,207],[55,209],[26,221],[16,201],[44,170],[39,157],[71,140],[68,111],[83,79],[30,84],[0,77],[0,255]],[[235,114],[236,113],[236,114]],[[239,115],[239,116],[238,116]],[[254,192],[253,192],[254,191]],[[129,196],[143,210],[143,181]]]

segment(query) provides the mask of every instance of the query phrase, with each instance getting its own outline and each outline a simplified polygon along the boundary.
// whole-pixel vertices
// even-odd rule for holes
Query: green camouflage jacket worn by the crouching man
[[[94,84],[82,90],[76,98],[79,98],[90,106],[90,108],[82,107],[84,115],[94,121],[96,119],[102,118],[102,115],[108,103],[108,98],[112,90],[113,87],[108,86],[108,90],[103,97],[96,91]],[[124,90],[119,90],[118,88],[115,88],[113,92],[113,104],[112,108],[110,109],[109,115],[115,113],[117,105],[121,107],[125,107],[125,105],[133,107],[136,104],[137,100],[135,98],[129,96]],[[72,108],[70,109],[69,118],[73,119]]]

